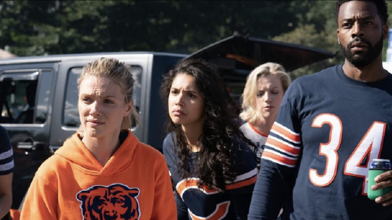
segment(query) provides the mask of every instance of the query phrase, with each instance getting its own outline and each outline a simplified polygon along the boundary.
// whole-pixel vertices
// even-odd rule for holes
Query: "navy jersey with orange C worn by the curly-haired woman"
[[[246,219],[257,178],[256,160],[247,145],[235,142],[234,167],[237,174],[234,182],[226,182],[226,190],[198,187],[198,178],[180,178],[174,144],[174,133],[163,141],[163,154],[174,182],[178,220],[183,219]],[[191,152],[189,166],[191,173],[196,170],[197,152]],[[237,218],[238,217],[238,218]]]

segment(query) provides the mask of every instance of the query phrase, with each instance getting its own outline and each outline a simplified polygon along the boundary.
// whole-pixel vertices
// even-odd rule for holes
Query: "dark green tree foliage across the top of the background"
[[[334,59],[294,71],[295,78],[343,61],[336,40],[334,4],[1,1],[0,48],[18,56],[110,51],[188,54],[239,33],[337,52]],[[391,11],[392,4],[388,8]]]

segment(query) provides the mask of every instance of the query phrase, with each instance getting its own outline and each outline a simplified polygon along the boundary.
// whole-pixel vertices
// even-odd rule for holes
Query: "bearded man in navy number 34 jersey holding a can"
[[[392,74],[382,68],[385,1],[338,1],[343,65],[286,91],[265,144],[248,219],[392,219],[392,192],[367,198],[375,158],[392,159]],[[392,172],[372,188],[391,186]]]

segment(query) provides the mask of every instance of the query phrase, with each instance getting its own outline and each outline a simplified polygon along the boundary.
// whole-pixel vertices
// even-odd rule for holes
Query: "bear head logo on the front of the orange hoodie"
[[[77,193],[83,220],[139,220],[138,188],[123,184],[92,186]]]

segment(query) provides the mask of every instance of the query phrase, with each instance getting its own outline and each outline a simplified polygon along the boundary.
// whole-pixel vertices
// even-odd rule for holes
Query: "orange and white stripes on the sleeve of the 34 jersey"
[[[275,122],[261,158],[283,166],[295,167],[301,152],[300,144],[300,134]]]

